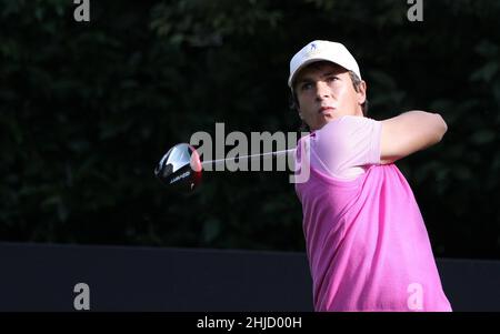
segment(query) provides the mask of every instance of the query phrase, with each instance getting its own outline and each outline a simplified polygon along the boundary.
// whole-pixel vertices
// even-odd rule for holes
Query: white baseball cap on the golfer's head
[[[359,67],[356,62],[354,57],[352,57],[352,54],[343,44],[317,40],[303,47],[291,59],[288,85],[293,90],[293,79],[299,70],[307,64],[321,60],[334,62],[346,70],[354,72],[359,77],[359,79],[361,79],[361,73],[359,71]]]

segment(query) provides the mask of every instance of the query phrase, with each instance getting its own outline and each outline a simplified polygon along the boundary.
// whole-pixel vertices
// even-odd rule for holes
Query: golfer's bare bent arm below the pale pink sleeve
[[[380,163],[387,164],[441,141],[448,126],[438,113],[409,111],[382,121]]]

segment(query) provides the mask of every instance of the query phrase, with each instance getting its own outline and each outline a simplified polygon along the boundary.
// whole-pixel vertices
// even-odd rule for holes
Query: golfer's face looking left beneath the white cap
[[[299,102],[299,115],[311,131],[343,115],[363,115],[364,81],[357,92],[349,72],[332,62],[314,62],[300,70],[293,91]]]

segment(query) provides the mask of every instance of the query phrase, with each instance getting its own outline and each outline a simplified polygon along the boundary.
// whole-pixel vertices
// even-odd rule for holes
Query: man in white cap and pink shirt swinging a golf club
[[[410,185],[394,162],[441,141],[437,113],[367,117],[367,83],[344,45],[313,41],[288,84],[310,134],[296,183],[316,311],[451,311]],[[306,155],[297,150],[296,165]]]

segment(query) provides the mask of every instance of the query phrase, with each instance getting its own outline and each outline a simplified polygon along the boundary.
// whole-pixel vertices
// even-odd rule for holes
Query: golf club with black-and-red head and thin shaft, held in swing
[[[157,168],[154,169],[154,175],[163,182],[163,184],[170,188],[179,188],[183,190],[193,190],[201,181],[201,171],[206,165],[217,165],[219,163],[226,163],[228,161],[242,160],[242,159],[263,159],[274,158],[290,152],[294,152],[296,149],[282,150],[276,152],[266,152],[259,154],[250,154],[242,156],[234,156],[229,159],[218,159],[200,161],[200,155],[197,150],[187,143],[180,143],[171,148],[161,158]]]

